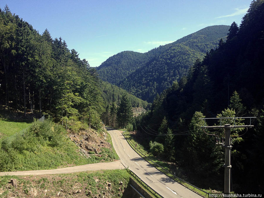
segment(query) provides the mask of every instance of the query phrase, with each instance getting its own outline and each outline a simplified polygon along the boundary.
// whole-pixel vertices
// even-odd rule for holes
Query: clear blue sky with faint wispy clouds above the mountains
[[[251,0],[1,0],[33,28],[62,37],[93,67],[125,50],[147,52],[212,25],[241,23]]]

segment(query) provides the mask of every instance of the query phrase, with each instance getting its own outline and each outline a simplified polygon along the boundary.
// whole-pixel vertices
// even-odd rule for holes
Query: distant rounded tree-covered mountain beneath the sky
[[[187,74],[197,58],[226,38],[229,26],[209,26],[147,53],[118,53],[98,68],[99,77],[149,102]]]

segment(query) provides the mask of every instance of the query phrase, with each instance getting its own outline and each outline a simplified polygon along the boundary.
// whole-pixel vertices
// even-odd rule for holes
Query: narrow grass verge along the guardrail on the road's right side
[[[170,172],[171,172],[171,170],[170,170],[170,165],[168,164],[168,163],[166,163],[166,162],[162,162],[162,161],[160,161],[160,160],[158,160],[155,156],[153,156],[151,153],[149,153],[148,151],[146,151],[146,150],[144,150],[144,147],[142,146],[142,145],[140,145],[139,143],[137,143],[134,139],[133,139],[133,137],[130,135],[130,133],[129,132],[124,132],[124,134],[125,134],[125,137],[130,141],[128,141],[128,144],[132,147],[132,148],[135,148],[134,147],[134,145],[136,145],[137,144],[137,149],[141,152],[141,153],[143,153],[145,156],[147,156],[147,157],[145,157],[144,155],[142,155],[140,152],[138,152],[138,150],[136,150],[135,149],[135,151],[142,157],[142,158],[144,158],[148,163],[150,163],[151,165],[153,165],[155,168],[157,168],[159,171],[161,171],[161,172],[163,172],[165,175],[167,175],[167,176],[169,176],[169,177],[171,177],[173,180],[175,180],[176,182],[178,182],[178,183],[180,183],[180,184],[182,184],[183,186],[185,186],[185,187],[187,187],[187,188],[189,188],[189,189],[191,189],[191,190],[193,190],[194,192],[197,192],[198,194],[200,194],[201,196],[203,196],[203,197],[207,197],[207,194],[206,193],[204,193],[204,192],[202,192],[202,191],[200,191],[199,189],[196,189],[196,188],[194,188],[194,187],[192,187],[191,185],[189,185],[189,184],[187,184],[187,183],[185,183],[185,182],[183,182],[182,180],[179,180],[177,177],[175,177],[174,175],[172,175]],[[132,144],[132,145],[131,145]],[[152,161],[150,161],[150,160],[152,160]],[[160,165],[161,167],[163,167],[164,169],[162,169],[161,167],[159,167],[159,166],[157,166],[156,164],[158,164],[158,165]],[[166,171],[167,170],[167,171]],[[204,191],[206,191],[206,192],[208,192],[208,193],[211,193],[212,191],[211,190],[208,190],[208,189],[202,189],[202,190],[204,190]]]

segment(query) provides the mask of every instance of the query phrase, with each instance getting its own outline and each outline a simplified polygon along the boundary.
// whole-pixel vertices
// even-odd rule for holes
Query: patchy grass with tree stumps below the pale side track
[[[0,190],[3,189],[4,192],[0,194],[0,197],[28,197],[28,194],[31,194],[31,189],[38,189],[36,197],[57,197],[58,192],[67,197],[86,197],[89,191],[92,192],[92,195],[87,195],[87,197],[98,196],[103,192],[106,192],[105,196],[107,197],[118,197],[119,193],[122,196],[123,190],[128,185],[129,177],[130,175],[126,170],[87,171],[34,177],[1,176]],[[11,178],[17,180],[17,189],[12,186],[9,188],[8,182]],[[119,185],[120,181],[123,182],[122,186]],[[106,190],[108,182],[111,183],[111,191]],[[120,187],[121,192],[118,190]],[[46,195],[45,189],[48,190]],[[71,196],[76,189],[81,189],[82,192]]]

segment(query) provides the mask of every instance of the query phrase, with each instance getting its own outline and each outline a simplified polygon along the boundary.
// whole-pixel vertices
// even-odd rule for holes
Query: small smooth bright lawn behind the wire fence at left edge
[[[29,122],[12,122],[0,120],[0,133],[8,137],[23,130],[23,128],[29,127],[30,124],[31,123]]]

